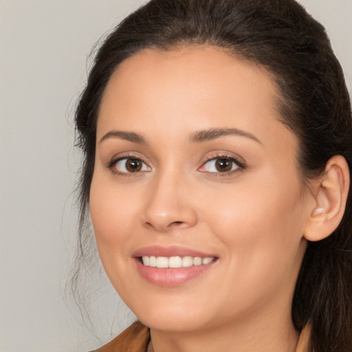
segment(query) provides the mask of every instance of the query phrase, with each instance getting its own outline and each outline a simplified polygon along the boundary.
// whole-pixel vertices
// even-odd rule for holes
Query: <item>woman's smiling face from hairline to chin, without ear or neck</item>
[[[263,69],[212,47],[144,50],[109,81],[91,220],[111,283],[152,329],[290,316],[307,201],[277,98]]]

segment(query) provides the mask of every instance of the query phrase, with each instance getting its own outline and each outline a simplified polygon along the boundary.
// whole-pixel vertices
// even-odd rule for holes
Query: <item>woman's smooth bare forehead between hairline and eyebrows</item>
[[[279,122],[278,97],[265,69],[215,47],[142,50],[111,76],[98,137],[108,129],[144,133],[153,126],[177,135],[221,126],[258,133],[259,140],[270,142],[273,133],[292,134]]]

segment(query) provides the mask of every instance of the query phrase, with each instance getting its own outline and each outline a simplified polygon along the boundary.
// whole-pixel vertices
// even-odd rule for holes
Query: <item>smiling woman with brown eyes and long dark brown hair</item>
[[[298,3],[146,3],[76,126],[81,226],[140,320],[98,351],[351,351],[351,105]]]

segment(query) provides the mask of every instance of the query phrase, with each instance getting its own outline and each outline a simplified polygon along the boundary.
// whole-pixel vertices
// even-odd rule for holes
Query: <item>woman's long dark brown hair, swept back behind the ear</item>
[[[261,65],[281,93],[280,113],[300,141],[303,177],[317,177],[333,155],[352,171],[351,102],[325,29],[294,0],[151,0],[102,43],[76,109],[80,181],[79,256],[87,257],[84,231],[94,170],[96,119],[104,89],[125,58],[145,48],[221,47]],[[352,173],[351,173],[352,174]],[[298,331],[311,323],[311,349],[352,351],[352,190],[338,229],[308,243],[298,276],[292,319]],[[74,272],[74,280],[79,271]]]

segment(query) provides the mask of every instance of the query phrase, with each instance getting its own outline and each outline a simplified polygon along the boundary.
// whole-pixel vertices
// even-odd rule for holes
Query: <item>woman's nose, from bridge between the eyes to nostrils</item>
[[[197,223],[197,212],[185,180],[181,180],[176,173],[157,177],[152,183],[142,214],[145,227],[166,232]]]

